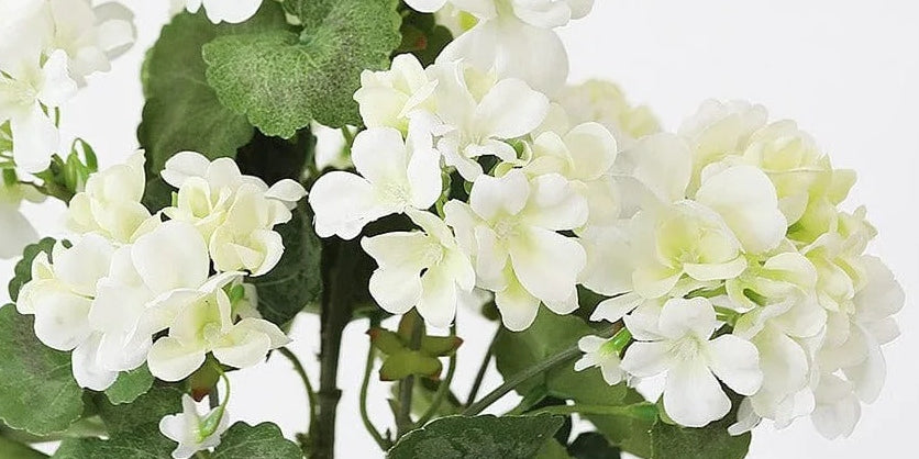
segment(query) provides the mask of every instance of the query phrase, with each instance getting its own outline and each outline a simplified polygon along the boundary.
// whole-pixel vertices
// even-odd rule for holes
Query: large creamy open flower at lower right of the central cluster
[[[587,203],[562,176],[528,182],[519,169],[479,176],[469,204],[450,201],[446,222],[475,262],[477,286],[495,292],[506,327],[521,331],[536,317],[540,302],[557,314],[577,309],[577,276],[586,255],[574,229],[587,220]]]

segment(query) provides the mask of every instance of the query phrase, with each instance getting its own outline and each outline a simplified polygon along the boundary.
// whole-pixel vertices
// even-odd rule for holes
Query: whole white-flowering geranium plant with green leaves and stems
[[[850,435],[905,300],[865,209],[842,206],[854,172],[761,105],[708,101],[667,132],[611,82],[567,85],[555,29],[593,4],[173,1],[141,149],[100,169],[59,121],[133,14],[0,0],[0,256],[23,256],[0,449],[331,458],[357,384],[391,458],[742,458],[759,424],[800,417]],[[68,232],[36,240],[20,205],[47,197]],[[498,332],[460,398],[470,305]],[[287,348],[301,313],[320,315],[315,361]],[[367,367],[339,381],[353,321]],[[275,354],[309,394],[291,439],[226,408],[233,372]],[[492,360],[503,383],[479,396]],[[369,417],[372,380],[391,422]],[[572,416],[591,427],[560,435]]]

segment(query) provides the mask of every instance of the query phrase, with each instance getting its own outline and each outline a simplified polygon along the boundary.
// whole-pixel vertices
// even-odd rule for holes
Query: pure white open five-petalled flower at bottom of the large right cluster
[[[622,369],[639,378],[666,372],[664,408],[676,423],[702,427],[728,414],[731,401],[719,379],[743,395],[760,389],[756,348],[734,335],[711,339],[718,321],[708,300],[668,300],[656,324],[631,317],[625,326],[638,342],[625,351]]]

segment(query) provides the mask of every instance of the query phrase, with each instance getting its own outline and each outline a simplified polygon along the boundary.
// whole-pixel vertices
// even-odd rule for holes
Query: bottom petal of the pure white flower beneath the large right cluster
[[[701,360],[684,361],[667,373],[664,410],[679,425],[704,427],[731,411],[731,401]]]

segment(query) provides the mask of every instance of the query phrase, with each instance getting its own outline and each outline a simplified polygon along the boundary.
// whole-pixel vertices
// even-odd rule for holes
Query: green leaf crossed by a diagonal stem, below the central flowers
[[[495,343],[498,371],[509,378],[594,333],[594,328],[579,317],[560,316],[543,309],[524,332],[501,329]],[[607,384],[598,369],[576,372],[572,362],[533,377],[517,388],[524,396],[532,391],[544,391],[545,395],[589,405],[620,405],[627,388],[625,384]]]

